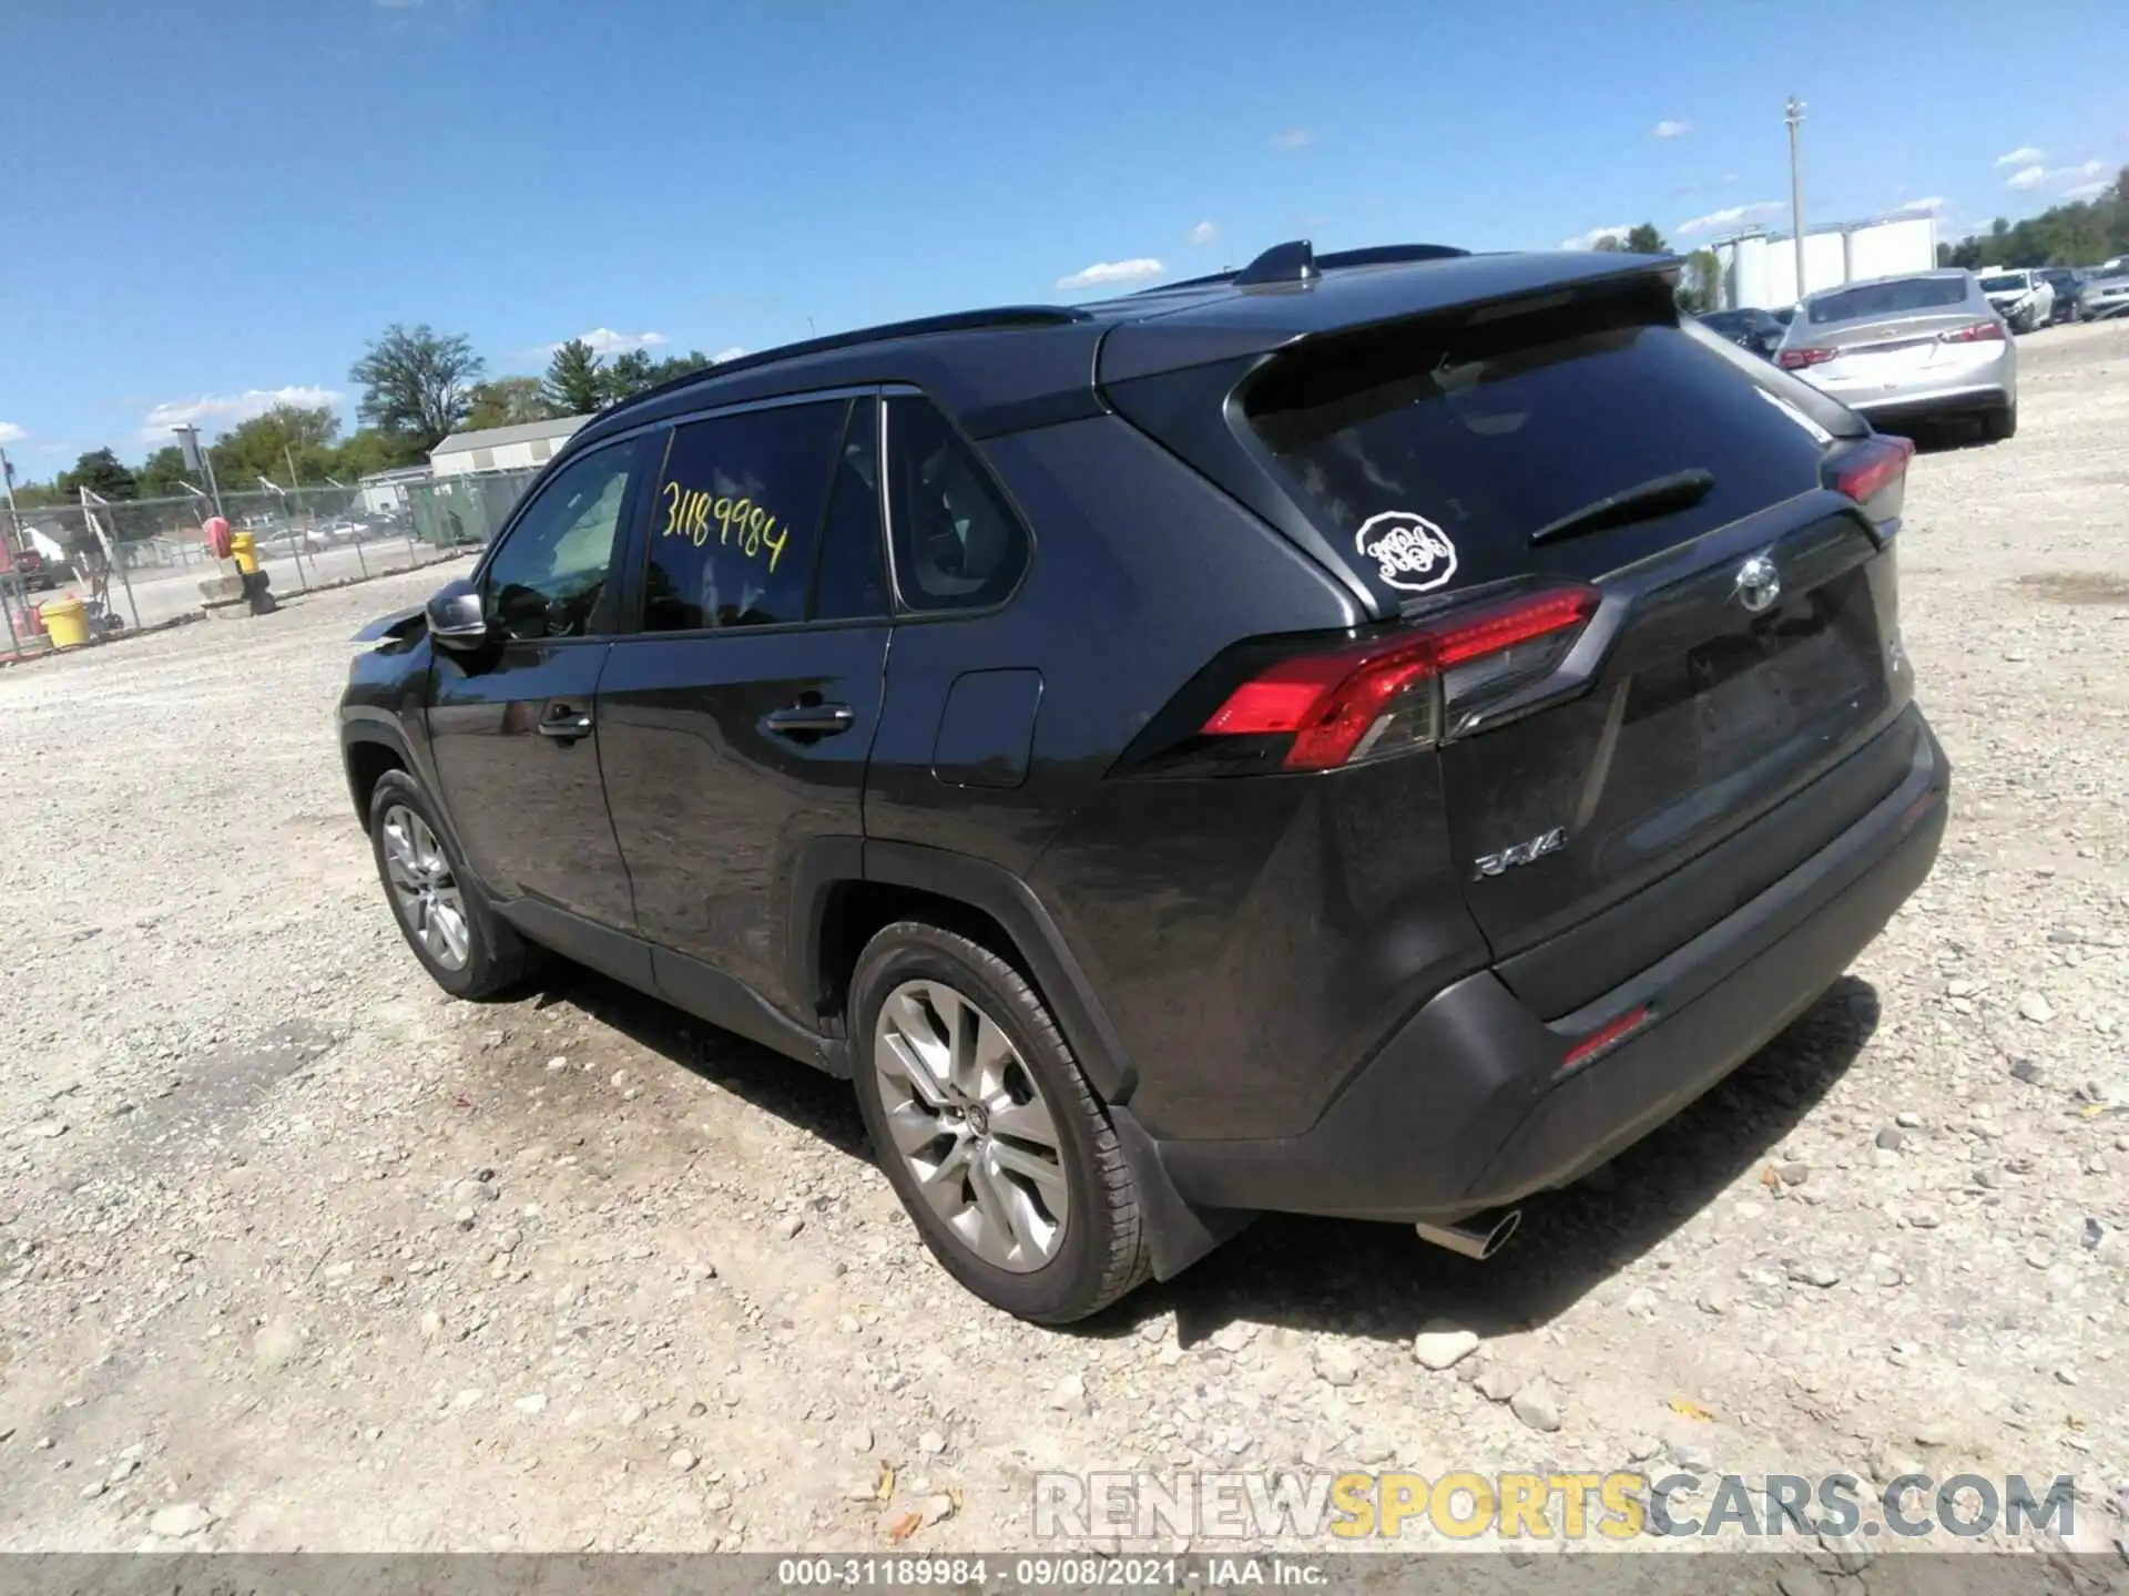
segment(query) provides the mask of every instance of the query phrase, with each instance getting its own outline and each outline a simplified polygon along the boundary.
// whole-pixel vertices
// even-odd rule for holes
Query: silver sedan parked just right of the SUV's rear
[[[1880,426],[1980,415],[1991,438],[2008,438],[2018,349],[1986,283],[1952,268],[1812,294],[1776,364]]]

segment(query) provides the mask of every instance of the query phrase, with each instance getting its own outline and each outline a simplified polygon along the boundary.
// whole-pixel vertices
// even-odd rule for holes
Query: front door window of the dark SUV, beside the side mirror
[[[620,443],[541,487],[481,577],[490,624],[519,643],[592,632],[641,458],[641,440]]]

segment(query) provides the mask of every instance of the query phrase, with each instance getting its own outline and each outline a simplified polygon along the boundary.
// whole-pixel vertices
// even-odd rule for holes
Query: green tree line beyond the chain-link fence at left
[[[260,477],[279,487],[317,487],[326,479],[353,485],[377,470],[424,464],[453,432],[588,415],[711,364],[700,349],[664,360],[630,349],[605,360],[571,338],[556,347],[545,377],[490,379],[488,362],[464,334],[392,323],[349,370],[362,392],[353,432],[343,436],[328,404],[275,404],[215,438],[209,458],[224,492],[253,492]],[[49,483],[17,483],[15,502],[79,504],[83,487],[113,502],[177,498],[185,483],[204,485],[185,470],[175,443],[141,466],[128,466],[115,449],[89,449]]]

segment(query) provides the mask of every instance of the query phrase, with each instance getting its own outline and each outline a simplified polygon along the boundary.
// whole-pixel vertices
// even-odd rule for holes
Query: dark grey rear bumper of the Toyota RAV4
[[[1497,975],[1471,975],[1305,1134],[1152,1143],[1167,1183],[1205,1209],[1452,1221],[1605,1162],[1810,1009],[1929,875],[1950,770],[1927,726],[1908,730],[1912,768],[1869,813],[1597,1002],[1546,1026]],[[1563,1075],[1578,1038],[1639,1007],[1650,1024]]]

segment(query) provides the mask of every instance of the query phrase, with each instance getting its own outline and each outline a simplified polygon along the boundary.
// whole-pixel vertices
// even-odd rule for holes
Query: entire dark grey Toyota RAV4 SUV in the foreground
[[[1925,879],[1912,445],[1663,260],[1282,245],[603,411],[362,636],[413,955],[551,949],[849,1077],[1037,1321],[1252,1213],[1471,1256]]]

